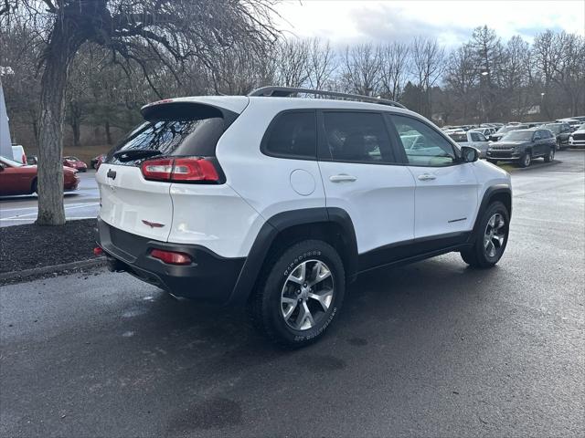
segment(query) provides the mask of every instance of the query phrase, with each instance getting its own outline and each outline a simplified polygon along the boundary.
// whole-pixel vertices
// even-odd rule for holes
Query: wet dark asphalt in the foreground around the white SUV
[[[585,153],[513,173],[509,244],[362,276],[327,336],[96,271],[0,288],[0,435],[584,436]]]

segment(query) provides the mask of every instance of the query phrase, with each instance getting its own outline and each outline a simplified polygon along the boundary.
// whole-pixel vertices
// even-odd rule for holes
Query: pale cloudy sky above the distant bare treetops
[[[341,1],[285,0],[276,5],[282,29],[321,36],[335,46],[356,41],[410,41],[436,36],[449,47],[467,41],[476,26],[495,29],[505,41],[528,41],[549,28],[585,35],[585,0],[569,1]]]

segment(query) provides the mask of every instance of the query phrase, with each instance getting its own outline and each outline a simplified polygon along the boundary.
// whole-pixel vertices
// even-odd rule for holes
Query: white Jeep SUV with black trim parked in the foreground
[[[395,102],[267,87],[142,113],[96,176],[110,268],[247,304],[283,345],[321,336],[360,273],[451,251],[489,267],[504,253],[509,174]]]

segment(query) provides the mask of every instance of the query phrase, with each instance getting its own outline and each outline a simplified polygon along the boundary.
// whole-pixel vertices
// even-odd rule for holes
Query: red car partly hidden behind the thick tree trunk
[[[76,190],[80,183],[77,171],[63,167],[63,188]],[[20,162],[0,157],[0,196],[31,194],[37,192],[37,166],[26,166]]]

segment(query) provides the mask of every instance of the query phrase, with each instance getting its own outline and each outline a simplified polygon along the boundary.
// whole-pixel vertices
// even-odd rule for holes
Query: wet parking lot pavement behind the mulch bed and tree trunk
[[[96,217],[100,209],[100,191],[95,171],[78,173],[80,186],[65,193],[65,215],[68,219]],[[0,196],[0,226],[32,224],[37,220],[37,194]]]

